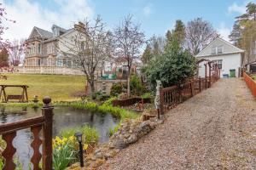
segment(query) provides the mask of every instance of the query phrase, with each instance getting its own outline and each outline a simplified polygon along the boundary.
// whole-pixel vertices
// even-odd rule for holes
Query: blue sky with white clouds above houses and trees
[[[147,38],[165,36],[172,30],[175,20],[201,17],[210,22],[225,40],[232,30],[235,17],[244,14],[246,4],[256,0],[0,0],[6,8],[4,22],[9,29],[3,38],[14,40],[29,37],[32,27],[50,31],[53,24],[72,28],[79,20],[93,19],[99,14],[111,29],[119,26],[125,15],[141,24]]]

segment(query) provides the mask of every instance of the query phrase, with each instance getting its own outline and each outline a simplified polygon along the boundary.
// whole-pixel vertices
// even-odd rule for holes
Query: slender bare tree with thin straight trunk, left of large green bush
[[[131,67],[136,59],[140,58],[141,51],[145,42],[145,35],[140,31],[140,25],[132,22],[132,16],[128,15],[114,29],[115,54],[127,61],[127,95],[131,94],[130,79]]]

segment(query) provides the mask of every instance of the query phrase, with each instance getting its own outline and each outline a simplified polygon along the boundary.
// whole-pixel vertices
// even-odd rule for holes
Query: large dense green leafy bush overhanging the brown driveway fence
[[[195,75],[195,57],[179,46],[177,38],[173,37],[165,52],[143,67],[143,73],[151,89],[155,89],[156,80],[164,87],[188,81]]]

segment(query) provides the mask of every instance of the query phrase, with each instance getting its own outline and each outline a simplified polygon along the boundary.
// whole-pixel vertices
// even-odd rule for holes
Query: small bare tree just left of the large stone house
[[[25,40],[14,40],[9,44],[9,59],[10,64],[14,66],[18,66],[20,64],[20,60],[22,58],[22,55],[24,55],[25,52]]]

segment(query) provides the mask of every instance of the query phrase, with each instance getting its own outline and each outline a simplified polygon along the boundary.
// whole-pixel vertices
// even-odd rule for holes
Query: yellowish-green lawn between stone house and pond
[[[35,75],[35,74],[5,74],[7,80],[0,84],[28,85],[28,99],[38,95],[40,101],[44,96],[50,96],[53,101],[77,100],[76,94],[85,89],[83,76]],[[6,88],[7,94],[21,94],[21,88]]]

